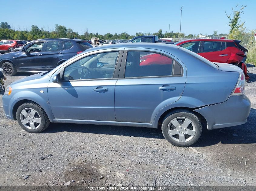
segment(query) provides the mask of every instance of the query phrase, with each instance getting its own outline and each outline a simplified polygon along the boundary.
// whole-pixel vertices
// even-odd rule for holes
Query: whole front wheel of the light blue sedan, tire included
[[[30,133],[42,132],[50,125],[43,108],[33,102],[26,102],[18,107],[16,117],[22,129]]]

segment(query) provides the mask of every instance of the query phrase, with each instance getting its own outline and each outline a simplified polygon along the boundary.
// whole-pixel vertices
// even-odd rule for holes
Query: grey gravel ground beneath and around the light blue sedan
[[[4,116],[1,94],[0,185],[152,186],[156,178],[156,185],[255,186],[256,67],[248,70],[248,122],[204,131],[193,146],[199,154],[170,145],[160,129],[52,123],[31,134]],[[27,75],[8,77],[5,86]]]

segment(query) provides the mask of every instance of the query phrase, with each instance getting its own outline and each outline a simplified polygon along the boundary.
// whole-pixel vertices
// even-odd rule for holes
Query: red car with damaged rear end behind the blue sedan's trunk
[[[228,39],[189,39],[181,40],[174,45],[181,46],[198,53],[211,62],[222,62],[234,64],[242,68],[246,80],[250,78],[247,74],[246,64],[242,60],[246,57],[248,50],[241,46],[240,40]]]

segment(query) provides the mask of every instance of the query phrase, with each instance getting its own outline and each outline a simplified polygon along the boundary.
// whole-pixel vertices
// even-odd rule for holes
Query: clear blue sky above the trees
[[[241,4],[242,3],[242,4]],[[247,5],[241,20],[248,30],[256,29],[255,0],[215,1],[143,1],[143,0],[23,0],[1,1],[0,22],[8,22],[16,30],[39,28],[54,29],[55,24],[65,25],[75,32],[106,34],[127,32],[154,33],[159,29],[185,34],[228,33],[228,18],[232,7]],[[21,10],[24,10],[22,13]]]

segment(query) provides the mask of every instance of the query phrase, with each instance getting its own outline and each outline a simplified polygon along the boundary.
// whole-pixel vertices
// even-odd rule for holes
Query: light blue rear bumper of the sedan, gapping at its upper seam
[[[196,109],[208,123],[208,130],[241,125],[247,122],[251,102],[245,95],[230,96],[227,101]]]

